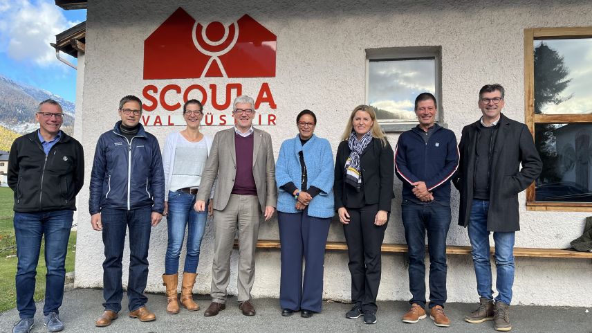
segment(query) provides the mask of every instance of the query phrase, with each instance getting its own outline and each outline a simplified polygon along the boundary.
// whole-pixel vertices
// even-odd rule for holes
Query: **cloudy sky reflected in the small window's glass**
[[[391,111],[400,119],[416,120],[415,98],[425,91],[435,94],[435,60],[371,61],[368,103]]]

